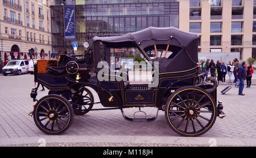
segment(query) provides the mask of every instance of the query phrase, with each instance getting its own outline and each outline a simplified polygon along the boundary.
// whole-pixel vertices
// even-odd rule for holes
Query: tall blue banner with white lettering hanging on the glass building
[[[64,6],[64,36],[66,41],[76,39],[74,6]]]

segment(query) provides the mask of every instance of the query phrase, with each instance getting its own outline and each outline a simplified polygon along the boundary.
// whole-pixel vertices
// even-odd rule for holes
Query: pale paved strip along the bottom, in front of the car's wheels
[[[27,138],[2,139],[0,146],[17,146],[19,144],[35,144],[43,138],[47,143],[138,143],[138,144],[170,144],[170,146],[256,146],[252,138],[212,138],[183,136],[35,136]]]

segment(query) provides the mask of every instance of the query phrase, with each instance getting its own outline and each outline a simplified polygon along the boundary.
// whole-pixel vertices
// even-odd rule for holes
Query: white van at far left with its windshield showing
[[[5,67],[3,67],[3,75],[8,74],[21,75],[28,72],[27,60],[9,61]]]

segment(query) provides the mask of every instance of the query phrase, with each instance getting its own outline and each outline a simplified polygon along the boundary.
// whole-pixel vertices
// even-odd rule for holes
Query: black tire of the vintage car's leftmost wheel
[[[38,117],[39,106],[40,106],[41,103],[43,103],[43,101],[45,101],[47,99],[57,99],[57,100],[61,101],[61,103],[63,105],[65,105],[65,107],[67,107],[67,111],[68,111],[68,114],[69,114],[68,122],[67,122],[67,125],[65,125],[59,131],[49,130],[49,129],[46,128],[48,124],[46,125],[46,127],[43,127],[42,123],[39,123],[39,121],[38,121],[38,118],[39,118]],[[36,126],[41,131],[43,131],[43,133],[46,133],[46,134],[49,134],[49,135],[59,135],[59,134],[64,133],[65,131],[67,131],[69,129],[69,127],[72,125],[72,123],[73,123],[73,108],[72,108],[71,104],[69,103],[69,101],[67,99],[65,99],[63,96],[60,96],[60,95],[47,95],[47,96],[42,97],[42,99],[40,99],[38,101],[38,103],[36,103],[36,105],[34,107],[34,111],[33,111],[33,117],[34,117],[34,121],[35,121]],[[54,123],[54,121],[53,121],[53,123]]]

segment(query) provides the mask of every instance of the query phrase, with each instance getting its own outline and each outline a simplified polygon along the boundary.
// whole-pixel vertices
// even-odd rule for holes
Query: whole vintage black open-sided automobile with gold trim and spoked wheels
[[[217,116],[223,118],[225,113],[222,103],[217,103],[216,80],[209,77],[209,82],[203,82],[205,74],[199,73],[198,40],[197,34],[174,27],[149,27],[122,36],[96,36],[93,53],[86,53],[84,58],[58,53],[56,59],[38,60],[34,73],[38,86],[31,91],[36,104],[31,116],[44,133],[61,134],[71,126],[74,113],[120,109],[129,121],[153,121],[158,111],[163,110],[168,125],[176,133],[183,136],[204,134]],[[129,72],[109,66],[118,54],[124,53],[125,49],[121,48],[133,48],[130,53],[136,51],[151,64],[154,69],[151,83],[131,83]],[[104,65],[99,66],[99,63]],[[102,70],[104,73],[100,74]],[[159,74],[157,78],[155,74]],[[114,80],[110,79],[113,76]],[[122,76],[127,76],[127,80],[120,79]],[[156,86],[150,86],[155,82],[158,82]],[[37,100],[40,84],[48,88],[49,93]],[[100,102],[94,101],[88,87],[97,92]],[[95,104],[105,108],[93,108]],[[139,112],[141,108],[156,107],[156,115],[152,118],[127,117],[123,109],[134,107],[139,108]]]

